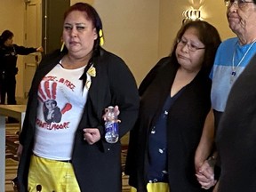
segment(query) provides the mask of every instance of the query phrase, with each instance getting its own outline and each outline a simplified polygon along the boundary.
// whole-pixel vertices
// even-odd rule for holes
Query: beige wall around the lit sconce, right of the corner
[[[201,17],[218,29],[222,40],[234,36],[228,28],[223,0],[160,0],[159,57],[171,52],[173,39],[184,19],[182,12],[191,8],[201,10]]]

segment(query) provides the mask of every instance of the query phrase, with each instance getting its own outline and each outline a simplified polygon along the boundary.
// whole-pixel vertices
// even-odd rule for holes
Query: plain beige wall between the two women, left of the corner
[[[106,39],[103,48],[123,58],[140,84],[158,60],[159,0],[84,2],[100,14]]]

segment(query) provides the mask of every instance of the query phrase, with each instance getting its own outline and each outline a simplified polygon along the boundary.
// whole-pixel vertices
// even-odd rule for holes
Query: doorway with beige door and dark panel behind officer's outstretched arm
[[[44,53],[35,52],[24,57],[24,98],[28,92],[36,68],[44,57],[60,49],[63,14],[70,6],[70,0],[31,0],[25,1],[25,45],[44,47]]]

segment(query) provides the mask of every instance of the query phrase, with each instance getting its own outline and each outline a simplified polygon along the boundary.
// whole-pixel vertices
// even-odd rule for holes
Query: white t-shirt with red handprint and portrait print
[[[58,64],[38,87],[36,140],[33,152],[54,160],[70,160],[77,126],[87,100],[88,86],[79,80],[84,67],[65,69]],[[87,84],[91,76],[87,74]]]

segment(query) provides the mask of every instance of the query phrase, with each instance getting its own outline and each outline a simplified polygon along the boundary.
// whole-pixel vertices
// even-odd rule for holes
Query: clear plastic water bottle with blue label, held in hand
[[[116,143],[119,138],[118,122],[112,106],[109,106],[106,111],[105,131],[105,140],[108,143]]]

